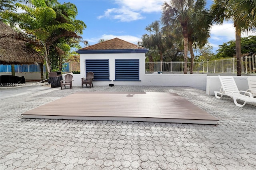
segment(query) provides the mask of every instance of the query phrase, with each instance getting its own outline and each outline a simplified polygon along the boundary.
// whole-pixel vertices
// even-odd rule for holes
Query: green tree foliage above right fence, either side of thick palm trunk
[[[256,54],[256,36],[248,36],[241,38],[241,53],[242,55],[255,55]],[[236,41],[219,45],[218,53],[215,58],[226,58],[236,56]]]

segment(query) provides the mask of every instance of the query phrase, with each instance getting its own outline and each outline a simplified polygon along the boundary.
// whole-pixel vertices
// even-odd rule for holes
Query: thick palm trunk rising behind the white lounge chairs
[[[242,71],[242,63],[241,63],[241,30],[238,28],[238,26],[235,24],[236,28],[236,65],[237,65],[237,76],[241,76]]]

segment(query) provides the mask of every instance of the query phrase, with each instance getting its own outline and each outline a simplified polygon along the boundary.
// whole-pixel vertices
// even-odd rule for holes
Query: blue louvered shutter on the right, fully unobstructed
[[[116,81],[139,81],[138,59],[116,59]]]

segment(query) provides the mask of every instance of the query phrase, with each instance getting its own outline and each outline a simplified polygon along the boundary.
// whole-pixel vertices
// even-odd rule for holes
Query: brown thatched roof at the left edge
[[[1,64],[33,64],[42,63],[44,57],[32,47],[24,34],[18,33],[10,26],[0,22],[0,63]]]

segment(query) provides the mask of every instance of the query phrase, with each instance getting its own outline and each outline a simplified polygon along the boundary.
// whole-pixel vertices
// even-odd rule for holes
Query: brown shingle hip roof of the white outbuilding
[[[106,49],[146,49],[119,38],[114,38],[105,42],[97,43],[79,50],[106,50]]]

